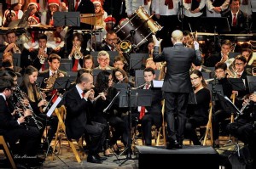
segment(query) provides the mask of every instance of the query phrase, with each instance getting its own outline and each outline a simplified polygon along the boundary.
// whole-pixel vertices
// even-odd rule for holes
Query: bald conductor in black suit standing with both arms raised
[[[167,122],[167,149],[182,149],[186,111],[192,85],[189,78],[191,64],[201,65],[201,52],[198,42],[195,49],[183,46],[183,32],[172,32],[173,47],[164,48],[160,54],[160,42],[153,35],[154,61],[166,61],[167,71],[162,91],[164,92],[165,117]],[[176,118],[175,118],[176,117]]]

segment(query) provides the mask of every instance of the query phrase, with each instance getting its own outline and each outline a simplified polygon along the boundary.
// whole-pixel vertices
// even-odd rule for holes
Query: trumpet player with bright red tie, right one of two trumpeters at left
[[[84,56],[90,54],[85,48],[83,48],[83,36],[80,33],[73,34],[73,48],[68,55],[68,59],[73,61],[73,71],[77,71],[83,67]]]

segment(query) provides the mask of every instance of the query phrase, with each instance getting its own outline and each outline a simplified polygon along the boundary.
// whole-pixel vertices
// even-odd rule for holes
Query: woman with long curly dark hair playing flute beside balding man
[[[127,124],[125,119],[128,120],[128,118],[127,115],[122,116],[123,111],[119,109],[119,100],[116,99],[109,110],[106,110],[106,112],[103,111],[108,107],[108,104],[110,104],[117,93],[117,89],[113,87],[113,78],[111,73],[107,70],[102,70],[97,75],[95,84],[95,95],[100,95],[101,97],[96,99],[93,121],[100,122],[107,127],[109,124],[109,126],[114,128],[113,136],[110,138],[108,143],[108,145],[113,147],[114,150],[118,150],[114,145],[116,145],[117,139],[120,136],[122,136],[122,142],[125,145],[128,143],[129,138],[129,131],[127,130],[128,127],[125,125]],[[105,155],[109,155],[108,148],[105,147],[105,149]]]

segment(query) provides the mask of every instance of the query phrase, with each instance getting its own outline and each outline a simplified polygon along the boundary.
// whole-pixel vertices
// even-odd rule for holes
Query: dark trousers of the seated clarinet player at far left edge
[[[10,149],[14,149],[16,142],[19,141],[21,155],[37,155],[38,138],[40,138],[38,128],[28,126],[28,129],[26,129],[26,127],[20,126],[6,132],[4,138],[9,143]]]

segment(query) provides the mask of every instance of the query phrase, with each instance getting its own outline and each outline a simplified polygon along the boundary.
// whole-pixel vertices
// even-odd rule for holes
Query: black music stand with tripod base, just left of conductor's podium
[[[119,93],[119,107],[128,107],[129,108],[129,135],[131,136],[131,107],[137,106],[150,106],[152,102],[152,91],[143,90],[143,89],[134,89],[128,88],[127,90],[120,90]],[[119,166],[122,166],[125,161],[131,160],[131,141],[128,138],[128,144],[125,150],[120,154],[122,155],[127,150],[127,155],[125,159],[118,159],[122,161]]]

